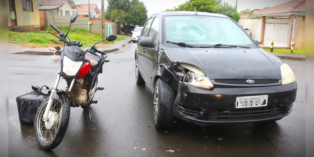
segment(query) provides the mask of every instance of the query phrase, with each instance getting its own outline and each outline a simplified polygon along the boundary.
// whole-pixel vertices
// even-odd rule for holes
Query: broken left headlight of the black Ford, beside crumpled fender
[[[203,87],[207,89],[211,89],[214,87],[209,78],[203,73],[203,71],[193,65],[181,63],[183,68],[187,68],[190,70],[183,78],[183,84],[190,84],[196,87]]]

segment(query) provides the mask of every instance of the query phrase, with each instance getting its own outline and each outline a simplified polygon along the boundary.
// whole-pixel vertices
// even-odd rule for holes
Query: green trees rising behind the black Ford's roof
[[[189,0],[174,9],[166,9],[166,11],[194,11],[190,2],[198,12],[224,14],[235,21],[240,19],[236,6],[229,5],[226,2],[221,3],[221,0]]]

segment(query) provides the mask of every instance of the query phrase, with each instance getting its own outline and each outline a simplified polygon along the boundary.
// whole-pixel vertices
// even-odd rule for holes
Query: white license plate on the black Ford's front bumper
[[[236,97],[236,108],[267,106],[268,95]]]

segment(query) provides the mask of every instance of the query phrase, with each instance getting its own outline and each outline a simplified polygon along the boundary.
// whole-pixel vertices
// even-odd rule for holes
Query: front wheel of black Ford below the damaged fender
[[[170,129],[172,127],[175,99],[175,90],[171,84],[159,78],[154,90],[154,122],[157,129]]]

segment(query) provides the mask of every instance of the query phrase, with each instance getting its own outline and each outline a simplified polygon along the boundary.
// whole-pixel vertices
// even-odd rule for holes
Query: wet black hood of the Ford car
[[[173,61],[202,69],[209,79],[281,79],[278,57],[260,49],[165,48]]]

